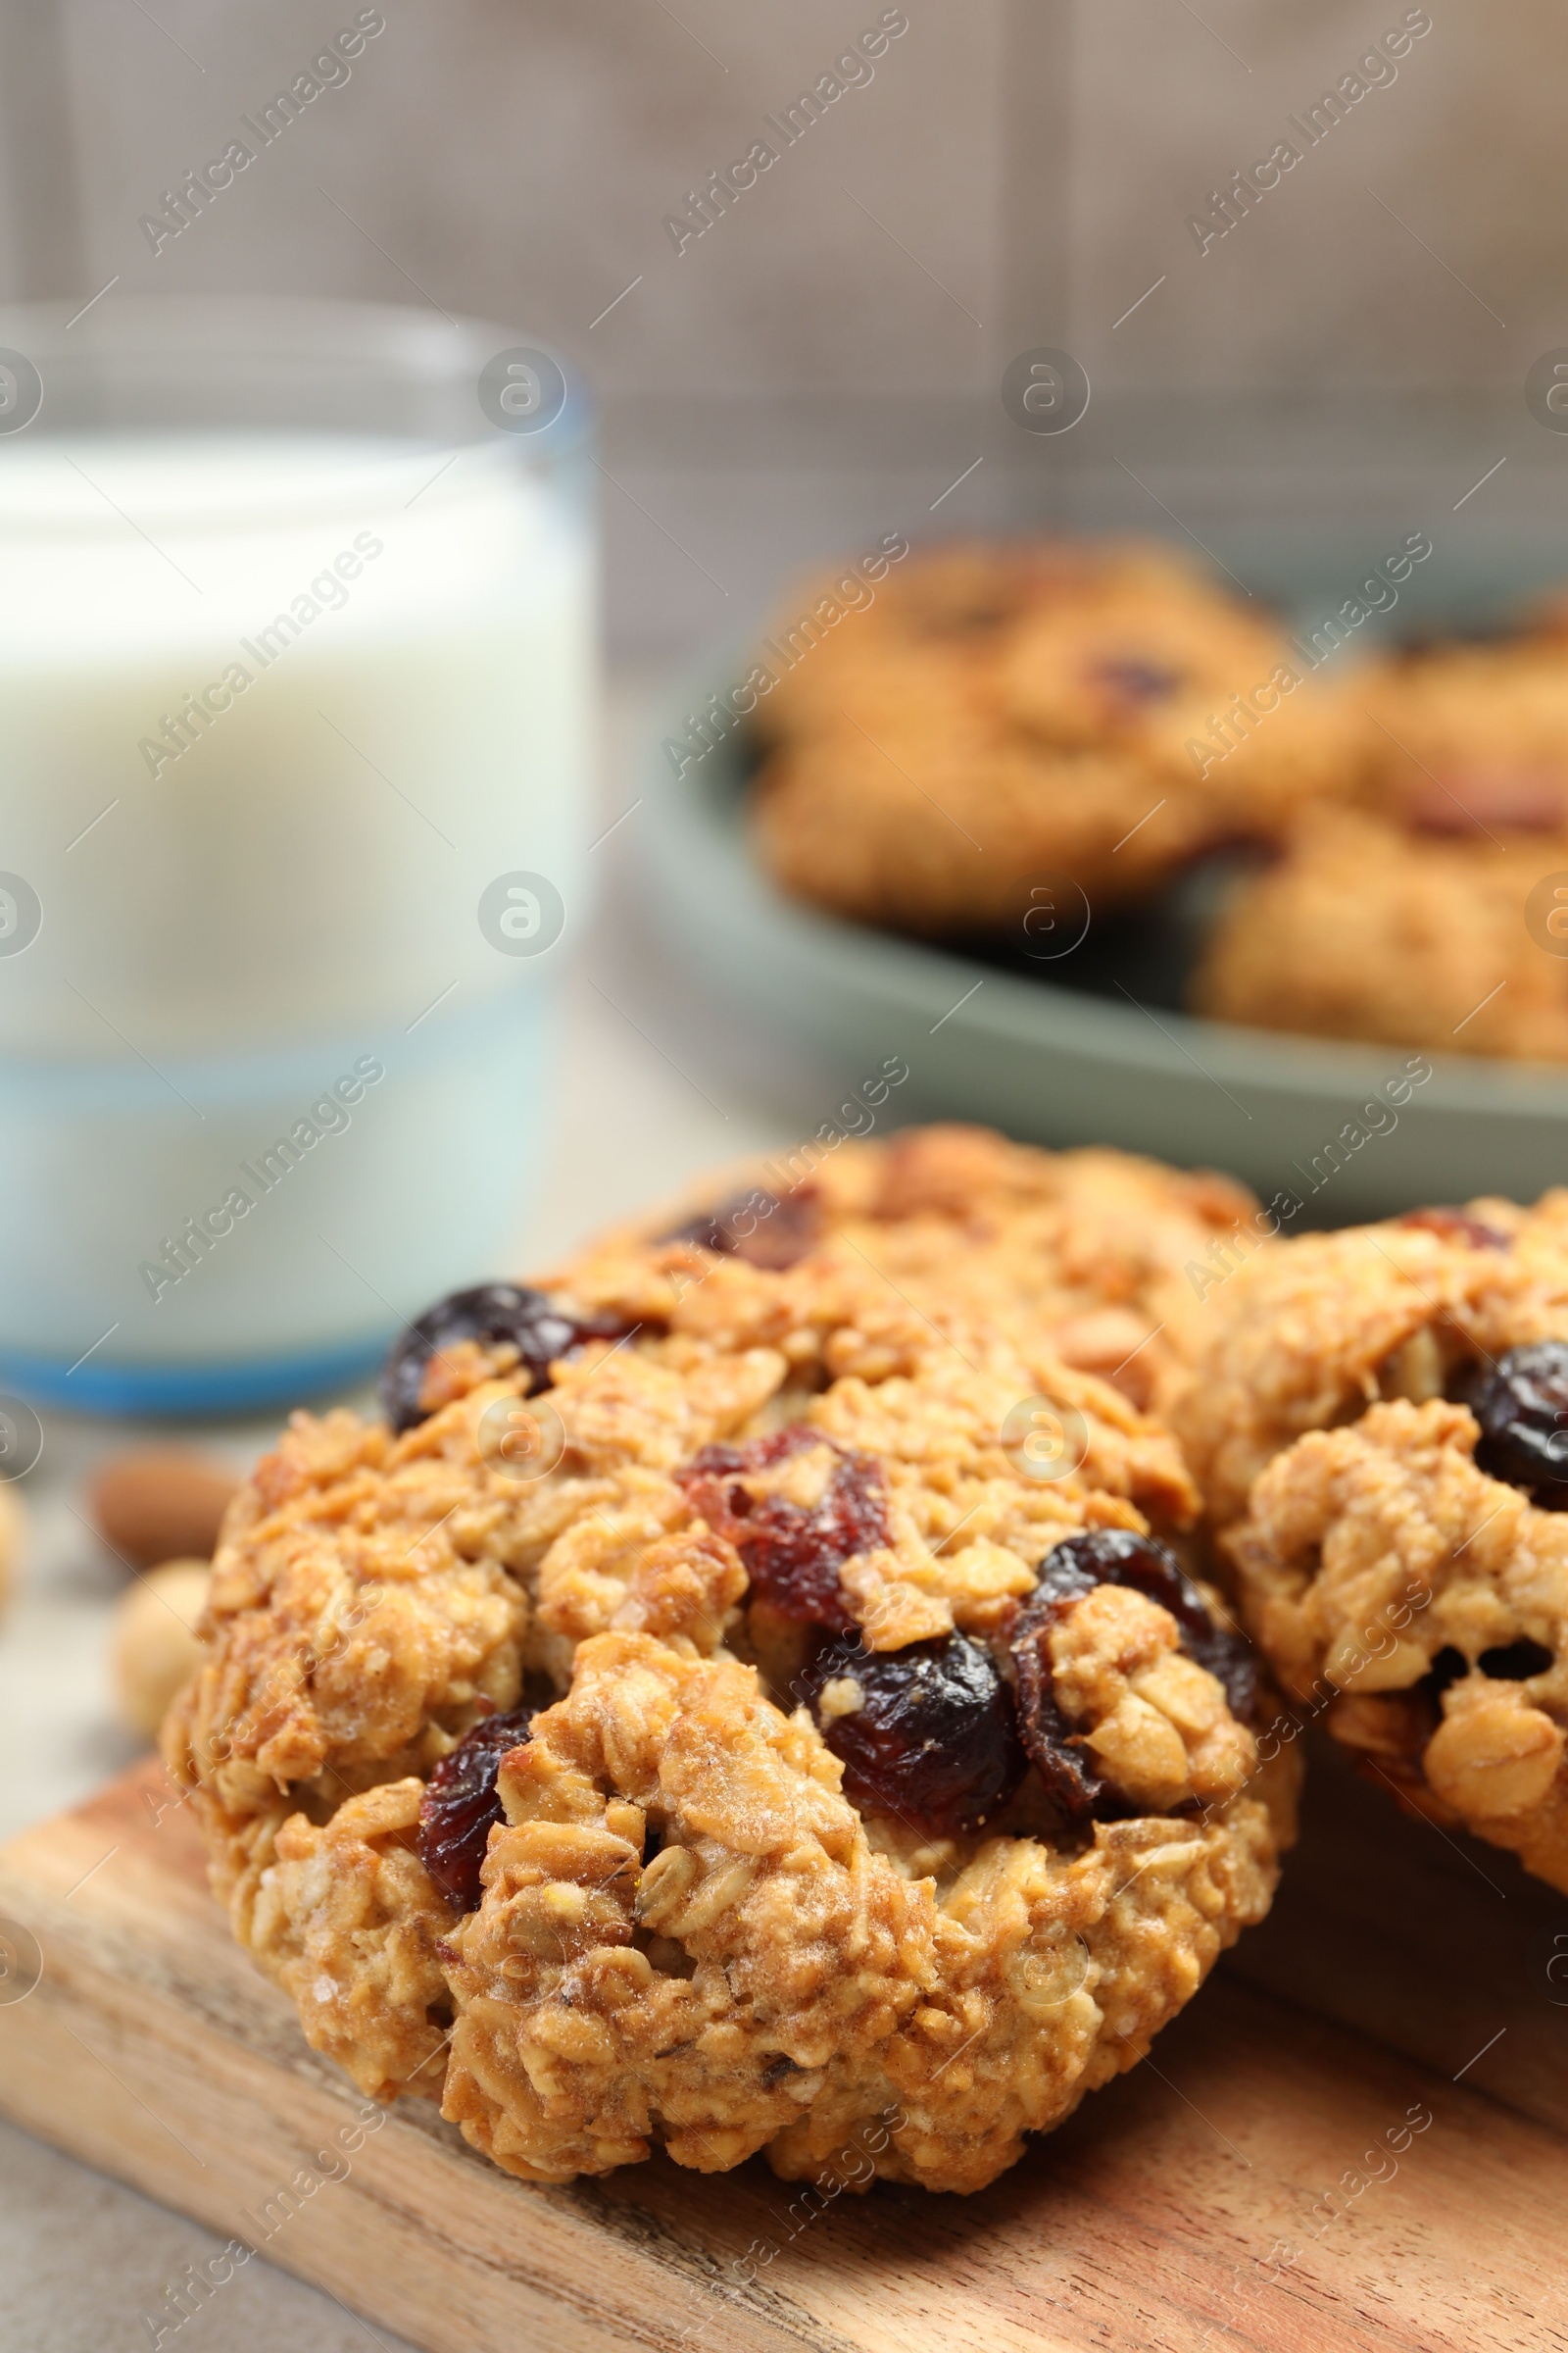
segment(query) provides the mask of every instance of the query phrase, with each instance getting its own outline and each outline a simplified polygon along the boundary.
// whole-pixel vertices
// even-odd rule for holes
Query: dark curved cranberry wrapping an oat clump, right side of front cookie
[[[1182,1652],[1206,1666],[1225,1689],[1229,1713],[1251,1722],[1258,1668],[1248,1642],[1208,1617],[1204,1595],[1180,1560],[1131,1527],[1095,1527],[1065,1537],[1039,1565],[1039,1584],[1018,1612],[1013,1666],[1018,1671],[1018,1729],[1051,1800],[1072,1824],[1117,1821],[1140,1812],[1086,1762],[1084,1741],[1056,1704],[1046,1638],[1072,1602],[1095,1586],[1131,1586],[1175,1619]]]

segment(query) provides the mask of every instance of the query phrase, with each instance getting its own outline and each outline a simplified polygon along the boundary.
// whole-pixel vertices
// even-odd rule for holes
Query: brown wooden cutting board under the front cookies
[[[357,2144],[150,1762],[0,1852],[0,2108],[430,2353],[1568,2348],[1568,1899],[1312,1767],[1267,1927],[978,2198]]]

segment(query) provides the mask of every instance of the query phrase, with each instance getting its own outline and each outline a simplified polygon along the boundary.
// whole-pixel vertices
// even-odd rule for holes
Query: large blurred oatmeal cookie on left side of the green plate
[[[1018,925],[1044,875],[1093,908],[1138,899],[1345,791],[1363,736],[1276,628],[1175,555],[1117,544],[917,555],[790,656],[759,713],[771,871],[924,934]]]

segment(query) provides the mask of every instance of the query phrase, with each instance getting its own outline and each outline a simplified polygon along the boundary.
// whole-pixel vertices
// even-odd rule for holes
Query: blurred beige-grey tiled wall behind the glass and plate
[[[1269,579],[1436,534],[1443,506],[1460,569],[1509,534],[1549,548],[1568,435],[1533,424],[1523,374],[1568,344],[1561,5],[1429,0],[1396,78],[1206,254],[1187,214],[1401,0],[905,12],[875,80],[677,256],[663,214],[877,0],[383,0],[353,80],[153,256],[136,216],[355,7],[16,0],[0,294],[85,301],[118,273],[552,339],[607,409],[623,638],[741,628],[790,562],[891,525],[1187,525]],[[1095,386],[1060,442],[997,398],[1030,344]]]

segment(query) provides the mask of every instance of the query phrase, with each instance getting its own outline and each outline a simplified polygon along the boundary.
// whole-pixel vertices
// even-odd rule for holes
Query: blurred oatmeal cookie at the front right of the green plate
[[[1474,781],[1465,788],[1483,805]],[[1309,1038],[1568,1061],[1568,958],[1528,922],[1537,885],[1568,873],[1568,831],[1502,824],[1495,802],[1490,828],[1472,833],[1316,809],[1222,913],[1192,976],[1194,1012]]]

